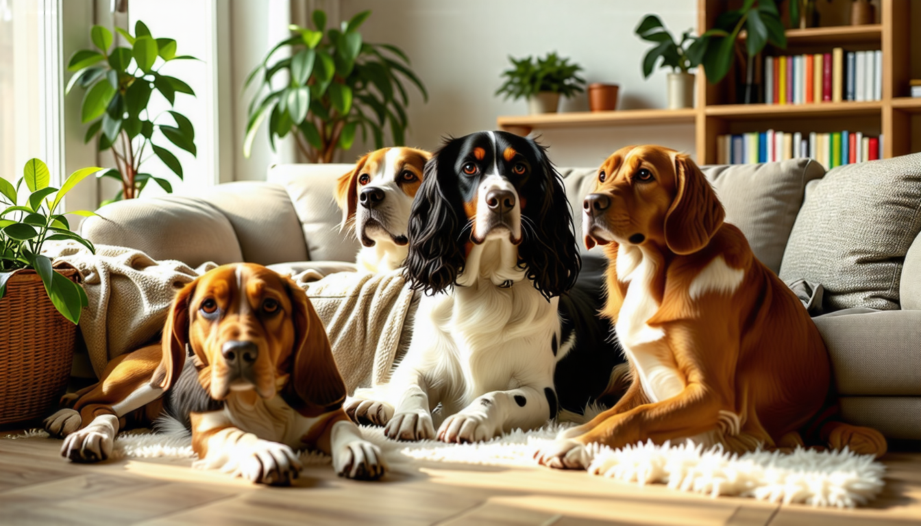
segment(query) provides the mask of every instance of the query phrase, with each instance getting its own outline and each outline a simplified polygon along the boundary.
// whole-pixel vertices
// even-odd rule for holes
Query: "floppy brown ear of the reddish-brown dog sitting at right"
[[[676,254],[703,249],[726,217],[717,193],[686,155],[675,156],[675,199],[665,216],[665,243]]]

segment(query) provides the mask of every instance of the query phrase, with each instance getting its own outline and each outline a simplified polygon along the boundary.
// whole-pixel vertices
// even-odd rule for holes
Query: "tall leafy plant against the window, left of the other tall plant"
[[[70,57],[67,69],[75,73],[64,92],[69,94],[75,86],[87,89],[81,107],[81,121],[89,123],[84,142],[99,137],[99,151],[111,149],[116,168],[99,174],[99,177],[110,177],[122,183],[122,190],[111,201],[137,197],[150,181],[172,192],[168,180],[140,171],[141,166],[150,156],[157,156],[182,179],[179,158],[168,147],[154,144],[153,139],[155,132],[159,131],[156,136],[160,145],[164,145],[160,136],[166,137],[174,146],[195,156],[195,130],[189,119],[178,111],[152,115],[147,107],[155,90],[169,102],[170,107],[174,105],[177,93],[194,96],[188,84],[174,76],[163,75],[160,70],[164,64],[174,60],[197,59],[177,55],[176,41],[153,38],[144,22],[138,21],[134,25],[134,35],[122,28],[115,30],[132,47],[111,48],[111,31],[93,26],[89,34],[96,49],[80,50]],[[161,117],[166,117],[165,113],[169,113],[171,119],[161,120]],[[146,151],[147,146],[151,147],[152,153]]]

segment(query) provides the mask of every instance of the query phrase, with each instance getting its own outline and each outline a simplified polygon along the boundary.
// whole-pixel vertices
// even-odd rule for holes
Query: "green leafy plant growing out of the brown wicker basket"
[[[0,298],[6,293],[6,282],[17,270],[35,269],[58,312],[75,324],[80,320],[80,310],[88,305],[87,293],[52,270],[52,262],[41,254],[41,246],[48,240],[74,240],[96,253],[92,243],[71,231],[64,214],[55,212],[76,183],[99,170],[98,167],[78,169],[57,189],[48,186],[51,176],[45,163],[33,158],[26,162],[23,177],[15,187],[0,178],[0,204],[6,207],[0,213]],[[22,205],[17,205],[17,193],[23,182],[29,188],[29,197]],[[86,210],[65,214],[95,216]]]

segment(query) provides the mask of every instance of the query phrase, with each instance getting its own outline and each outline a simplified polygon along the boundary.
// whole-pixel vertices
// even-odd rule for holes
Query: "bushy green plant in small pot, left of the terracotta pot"
[[[530,56],[522,59],[509,56],[508,61],[512,67],[502,72],[506,81],[495,90],[495,95],[528,99],[531,113],[554,113],[561,95],[568,98],[584,91],[585,79],[578,76],[582,66],[569,64],[568,58],[561,59],[555,52],[536,61]]]

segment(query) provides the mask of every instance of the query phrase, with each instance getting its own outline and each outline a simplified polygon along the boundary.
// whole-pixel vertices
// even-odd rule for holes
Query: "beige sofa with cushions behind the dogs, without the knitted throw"
[[[878,162],[837,169],[825,178],[822,166],[807,159],[705,167],[705,174],[726,206],[727,221],[742,229],[755,255],[788,285],[800,282],[795,289],[811,299],[812,310],[828,311],[815,321],[832,356],[845,419],[876,427],[889,438],[921,439],[921,240],[915,240],[921,230],[921,195],[913,193],[921,192],[921,154]],[[82,233],[97,244],[127,246],[192,266],[246,261],[294,272],[309,261],[314,268],[348,270],[354,268],[359,245],[350,232],[340,232],[332,191],[335,179],[351,168],[276,165],[264,182],[222,184],[196,197],[114,203],[87,219]],[[896,212],[904,214],[880,218],[880,209],[892,201],[886,195],[886,178],[895,177],[887,175],[891,171],[901,174],[894,186],[902,200]],[[594,184],[596,169],[561,173],[581,231],[582,198]],[[867,191],[860,193],[854,181]],[[866,217],[855,217],[849,192],[879,194],[882,205],[862,203]],[[848,219],[854,226],[848,226]],[[895,221],[891,229],[901,238],[880,240],[878,232],[865,232],[862,221],[877,227]],[[854,236],[844,246],[848,234]],[[870,262],[879,263],[876,275],[888,276],[883,284],[888,288],[880,294],[855,292],[864,283],[880,281],[865,268],[874,258],[860,255],[861,245],[880,256]],[[822,285],[823,295],[815,294],[816,285]]]

